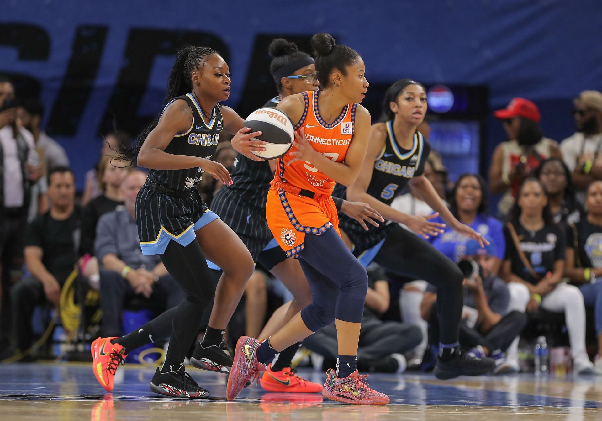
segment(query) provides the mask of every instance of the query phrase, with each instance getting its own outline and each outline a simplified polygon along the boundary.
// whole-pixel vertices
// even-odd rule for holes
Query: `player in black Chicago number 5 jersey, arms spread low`
[[[388,121],[372,126],[368,152],[358,179],[347,189],[337,186],[334,194],[349,200],[364,201],[392,223],[370,226],[365,232],[355,221],[340,215],[341,237],[365,266],[375,261],[386,270],[424,279],[437,287],[441,323],[441,343],[435,366],[438,378],[481,375],[494,368],[494,360],[471,358],[459,351],[458,335],[464,294],[462,272],[430,243],[399,225],[404,223],[427,239],[429,235],[442,232],[444,225],[429,221],[441,214],[442,219],[458,234],[478,240],[481,246],[486,243],[481,234],[452,215],[423,175],[430,146],[417,127],[423,122],[426,110],[426,90],[420,83],[403,79],[389,87],[383,102]],[[408,184],[436,211],[435,214],[428,217],[410,216],[389,206]],[[441,296],[443,291],[445,293]]]

